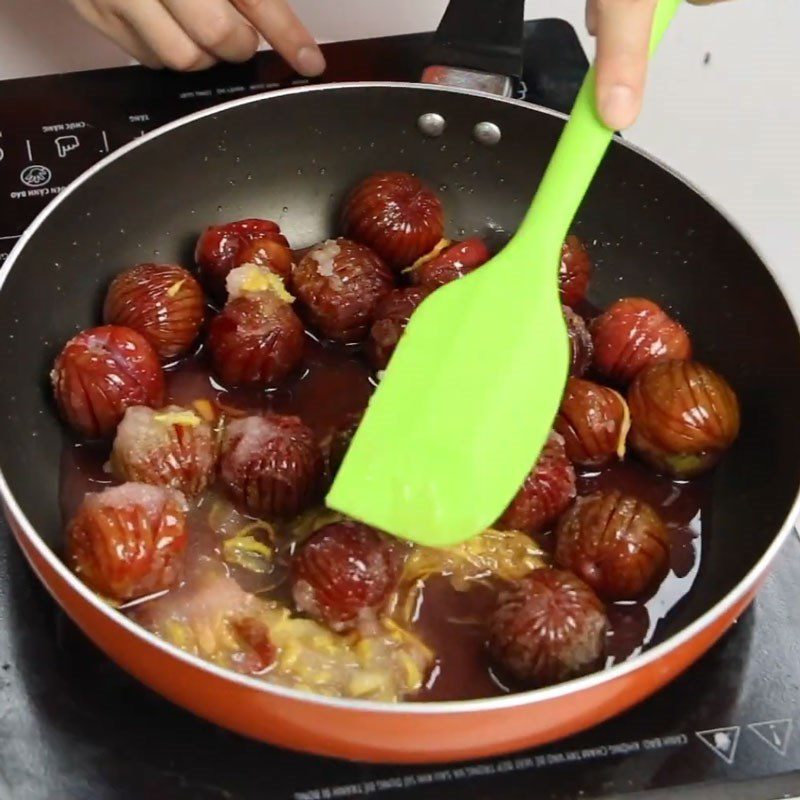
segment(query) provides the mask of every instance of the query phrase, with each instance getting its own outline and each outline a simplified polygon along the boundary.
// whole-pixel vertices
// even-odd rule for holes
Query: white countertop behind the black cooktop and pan
[[[431,30],[445,0],[295,0],[321,41]],[[581,32],[582,0],[526,16]],[[628,138],[689,177],[750,237],[800,308],[800,0],[686,8],[653,66]],[[705,64],[706,54],[710,61]],[[0,80],[129,63],[65,0],[0,0]]]

